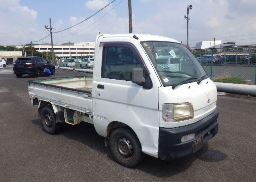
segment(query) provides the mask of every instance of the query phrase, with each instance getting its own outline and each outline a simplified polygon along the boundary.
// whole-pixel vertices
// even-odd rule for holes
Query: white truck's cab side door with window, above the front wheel
[[[98,134],[106,137],[110,122],[130,126],[142,151],[158,150],[158,87],[143,88],[132,80],[132,68],[143,68],[142,58],[130,43],[105,43],[97,52],[93,79],[93,122]],[[95,61],[96,62],[96,61]],[[146,78],[151,79],[148,76]],[[150,137],[150,140],[147,140]]]

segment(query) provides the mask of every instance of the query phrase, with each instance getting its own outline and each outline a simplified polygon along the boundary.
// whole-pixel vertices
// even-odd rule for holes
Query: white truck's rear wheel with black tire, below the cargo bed
[[[56,114],[50,106],[42,108],[41,120],[44,131],[48,134],[55,134],[60,129],[60,123],[56,123]]]

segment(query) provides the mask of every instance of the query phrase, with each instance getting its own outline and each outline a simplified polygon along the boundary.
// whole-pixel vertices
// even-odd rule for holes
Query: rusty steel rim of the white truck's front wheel
[[[115,150],[118,156],[124,160],[130,160],[133,156],[132,143],[126,137],[118,137],[115,140]]]

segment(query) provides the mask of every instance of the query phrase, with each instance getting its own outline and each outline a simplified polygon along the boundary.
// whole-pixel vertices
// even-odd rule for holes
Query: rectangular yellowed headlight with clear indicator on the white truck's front
[[[190,103],[163,104],[163,120],[166,122],[177,122],[193,118],[193,106]]]

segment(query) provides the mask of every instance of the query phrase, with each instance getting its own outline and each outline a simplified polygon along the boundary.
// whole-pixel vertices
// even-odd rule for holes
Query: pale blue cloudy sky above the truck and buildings
[[[54,44],[94,41],[98,31],[128,33],[128,0],[123,0],[90,26],[120,1],[116,0],[111,7],[79,26],[54,34]],[[87,18],[108,2],[110,0],[0,0],[0,44],[19,45],[39,40],[48,34],[44,25],[49,25],[50,17],[56,31],[62,30]],[[234,40],[237,44],[256,43],[255,0],[132,0],[134,33],[157,34],[185,42],[184,15],[188,4],[193,6],[189,29],[191,46],[214,37]],[[87,26],[90,27],[83,30]],[[247,34],[252,35],[240,36]],[[221,38],[223,36],[234,37]],[[50,38],[37,43],[42,42],[50,42]]]

